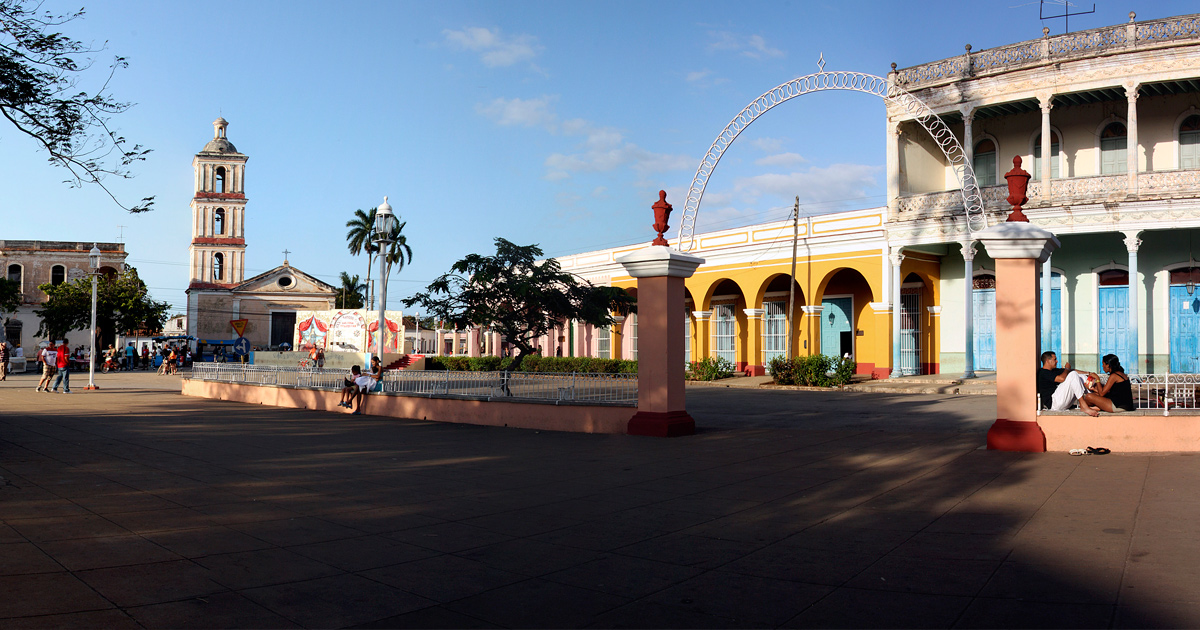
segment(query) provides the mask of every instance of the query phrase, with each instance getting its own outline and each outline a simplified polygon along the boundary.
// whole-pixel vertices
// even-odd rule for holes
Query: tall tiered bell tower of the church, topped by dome
[[[245,280],[247,157],[226,138],[228,127],[223,118],[212,121],[212,139],[192,158],[188,288],[233,287]]]

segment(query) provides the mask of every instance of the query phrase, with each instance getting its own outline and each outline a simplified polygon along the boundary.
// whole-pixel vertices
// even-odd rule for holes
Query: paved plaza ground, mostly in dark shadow
[[[990,396],[695,388],[655,439],[74,380],[0,383],[4,628],[1200,625],[1200,460],[980,450]]]

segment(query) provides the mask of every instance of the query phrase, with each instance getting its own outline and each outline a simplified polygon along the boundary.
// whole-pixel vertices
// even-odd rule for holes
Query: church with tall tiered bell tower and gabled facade
[[[230,320],[246,319],[253,346],[292,343],[296,311],[334,307],[336,290],[283,264],[245,280],[246,161],[226,137],[229,122],[212,122],[214,137],[192,160],[191,282],[187,334],[202,341],[235,340]]]

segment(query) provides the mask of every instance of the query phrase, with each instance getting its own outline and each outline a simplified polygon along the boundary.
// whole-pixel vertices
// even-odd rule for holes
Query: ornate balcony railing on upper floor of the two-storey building
[[[979,188],[984,209],[1007,211],[1009,209],[1008,186]],[[1138,190],[1129,192],[1129,175],[1098,175],[1090,178],[1066,178],[1050,180],[1050,198],[1042,194],[1042,182],[1030,181],[1026,208],[1039,209],[1055,205],[1104,203],[1111,200],[1156,200],[1200,197],[1200,170],[1153,170],[1138,173]],[[924,194],[901,196],[896,202],[893,221],[919,221],[944,216],[961,216],[962,193],[941,191]]]

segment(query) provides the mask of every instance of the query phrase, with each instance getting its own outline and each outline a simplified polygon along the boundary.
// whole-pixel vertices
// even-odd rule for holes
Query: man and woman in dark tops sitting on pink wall
[[[1079,372],[1070,364],[1058,367],[1058,355],[1052,352],[1042,353],[1042,367],[1038,368],[1038,396],[1042,408],[1054,412],[1066,412],[1076,403],[1087,415],[1096,418],[1100,412],[1117,413],[1136,409],[1133,403],[1133,388],[1126,376],[1121,361],[1115,354],[1106,354],[1102,360],[1109,380],[1100,385],[1100,378],[1094,372]]]

